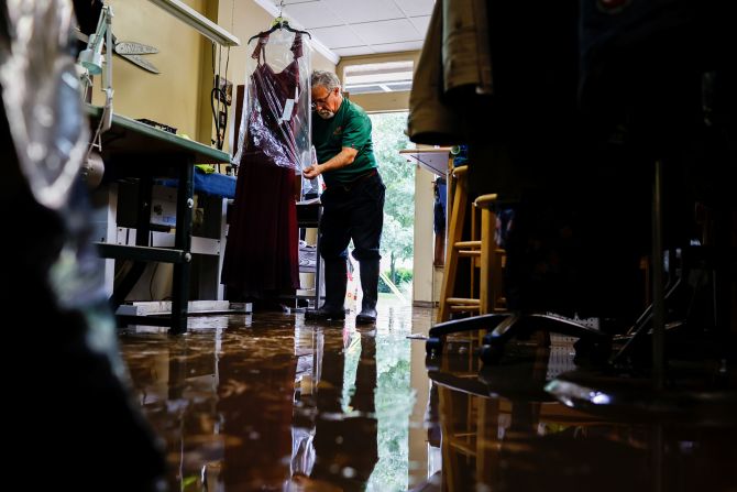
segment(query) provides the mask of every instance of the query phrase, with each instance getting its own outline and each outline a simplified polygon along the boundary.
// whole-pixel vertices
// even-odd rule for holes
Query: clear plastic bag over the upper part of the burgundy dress
[[[309,37],[286,29],[254,37],[235,164],[248,155],[297,171],[311,164]],[[246,157],[244,157],[244,155]]]

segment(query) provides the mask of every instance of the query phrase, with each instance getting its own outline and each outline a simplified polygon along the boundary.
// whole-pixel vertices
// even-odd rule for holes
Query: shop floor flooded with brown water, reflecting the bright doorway
[[[461,339],[426,360],[413,336],[432,318],[380,305],[369,328],[256,313],[125,331],[169,490],[737,491],[737,415],[574,409],[543,391],[576,369],[572,340],[483,367]]]

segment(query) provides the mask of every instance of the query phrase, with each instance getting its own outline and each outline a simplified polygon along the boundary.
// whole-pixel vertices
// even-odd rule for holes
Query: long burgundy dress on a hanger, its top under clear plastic
[[[290,118],[301,96],[301,34],[296,33],[293,62],[282,72],[266,63],[268,36],[261,36],[252,57],[242,127],[245,146],[239,162],[222,283],[244,298],[267,299],[299,288],[295,168],[300,153],[295,135],[300,118]],[[302,97],[307,97],[305,94]]]

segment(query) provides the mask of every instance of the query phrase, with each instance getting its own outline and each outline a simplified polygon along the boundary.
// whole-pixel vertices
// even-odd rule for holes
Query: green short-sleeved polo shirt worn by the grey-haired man
[[[350,183],[377,167],[371,119],[363,108],[348,99],[343,99],[336,116],[329,120],[312,114],[312,144],[320,164],[338,155],[343,147],[359,151],[351,164],[322,174],[327,186]]]

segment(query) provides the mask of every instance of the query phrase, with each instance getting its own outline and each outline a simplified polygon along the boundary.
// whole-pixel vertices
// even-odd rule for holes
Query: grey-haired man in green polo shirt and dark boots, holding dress
[[[319,309],[307,311],[306,318],[345,319],[345,260],[353,239],[353,258],[360,264],[363,291],[355,322],[372,324],[376,321],[385,186],[374,156],[371,119],[360,106],[343,98],[336,74],[315,70],[311,86],[317,163],[304,175],[314,179],[321,174],[326,184],[320,221],[326,300]]]

